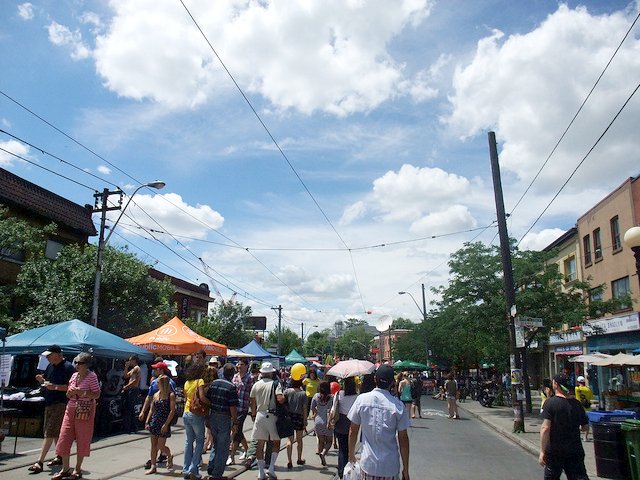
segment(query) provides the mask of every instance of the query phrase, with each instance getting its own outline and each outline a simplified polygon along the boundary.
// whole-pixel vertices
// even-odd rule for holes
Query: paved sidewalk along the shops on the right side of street
[[[533,413],[525,413],[525,433],[513,433],[514,415],[511,407],[486,408],[480,405],[480,402],[467,399],[466,402],[458,402],[458,409],[477,418],[536,457],[540,454],[540,426],[542,425],[542,419],[537,413],[540,411],[539,405],[533,405]],[[589,478],[597,479],[601,477],[596,476],[596,459],[592,438],[593,432],[590,432],[590,440],[583,442],[584,463]]]

